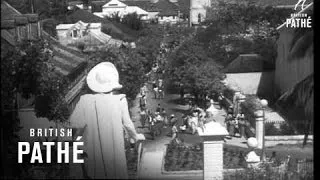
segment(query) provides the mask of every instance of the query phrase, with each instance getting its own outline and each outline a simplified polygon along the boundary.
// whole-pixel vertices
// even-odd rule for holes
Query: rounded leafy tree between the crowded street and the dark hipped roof
[[[169,78],[191,89],[196,98],[200,94],[221,92],[224,89],[221,83],[224,75],[220,72],[220,66],[208,57],[197,42],[185,42],[169,56],[167,69]]]

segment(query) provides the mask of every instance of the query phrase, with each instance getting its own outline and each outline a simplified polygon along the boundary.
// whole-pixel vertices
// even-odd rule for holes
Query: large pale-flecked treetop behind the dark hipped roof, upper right
[[[208,10],[206,24],[209,27],[197,35],[198,40],[209,47],[210,57],[216,57],[222,65],[243,53],[260,54],[274,64],[277,56],[276,27],[291,11],[252,3],[220,2]]]

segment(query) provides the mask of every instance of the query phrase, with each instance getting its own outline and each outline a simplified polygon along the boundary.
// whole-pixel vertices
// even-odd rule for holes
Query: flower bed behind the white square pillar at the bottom
[[[245,168],[244,152],[240,149],[224,148],[223,168]],[[165,155],[165,171],[203,170],[203,148],[201,144],[184,146],[169,144]]]

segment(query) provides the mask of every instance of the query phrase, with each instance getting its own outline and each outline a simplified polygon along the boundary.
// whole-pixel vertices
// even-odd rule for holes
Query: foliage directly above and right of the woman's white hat
[[[95,52],[90,59],[91,67],[105,61],[113,63],[119,72],[120,84],[123,85],[121,92],[126,94],[129,101],[136,98],[145,82],[144,63],[147,62],[136,50],[110,48]]]

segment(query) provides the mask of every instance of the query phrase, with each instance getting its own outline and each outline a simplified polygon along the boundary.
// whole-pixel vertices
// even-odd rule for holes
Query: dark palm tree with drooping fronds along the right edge
[[[308,12],[313,18],[313,10]],[[313,58],[313,29],[297,28],[294,31],[293,39],[290,44],[288,61],[299,61],[304,57]],[[314,98],[314,80],[313,73],[297,83],[292,89],[282,95],[278,102],[286,102],[287,105],[294,104],[303,106],[306,115],[305,137],[303,146],[306,145],[308,135],[313,125],[313,98]]]

